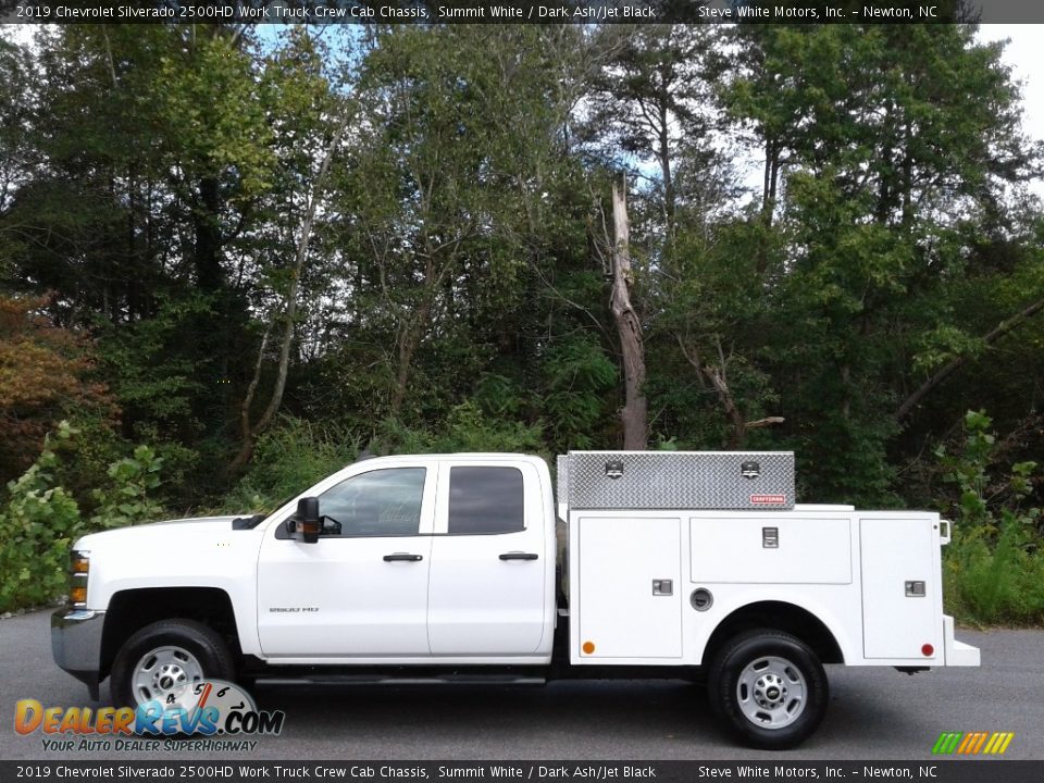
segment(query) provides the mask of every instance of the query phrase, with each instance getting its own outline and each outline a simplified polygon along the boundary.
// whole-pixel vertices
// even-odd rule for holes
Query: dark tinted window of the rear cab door
[[[525,530],[525,494],[518,468],[451,468],[449,534]]]

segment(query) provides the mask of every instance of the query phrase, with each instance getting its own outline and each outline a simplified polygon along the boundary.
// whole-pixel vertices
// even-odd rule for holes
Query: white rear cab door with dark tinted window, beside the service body
[[[543,520],[535,469],[443,463],[438,496],[428,597],[432,654],[521,656],[549,648],[544,636],[555,563],[545,546],[549,522]]]

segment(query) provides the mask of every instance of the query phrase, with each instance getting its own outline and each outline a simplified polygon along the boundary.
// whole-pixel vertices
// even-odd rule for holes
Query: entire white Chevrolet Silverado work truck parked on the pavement
[[[269,515],[80,538],[54,659],[117,706],[202,679],[699,676],[763,748],[815,731],[823,663],[978,666],[943,613],[948,523],[795,505],[793,464],[570,452],[556,506],[535,457],[368,459]]]

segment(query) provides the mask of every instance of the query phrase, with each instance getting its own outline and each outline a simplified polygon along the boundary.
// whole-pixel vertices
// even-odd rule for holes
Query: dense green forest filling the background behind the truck
[[[800,500],[965,522],[966,614],[1041,620],[1042,157],[999,54],[973,25],[0,33],[9,564],[363,448],[793,449]],[[0,609],[59,589],[34,568]]]

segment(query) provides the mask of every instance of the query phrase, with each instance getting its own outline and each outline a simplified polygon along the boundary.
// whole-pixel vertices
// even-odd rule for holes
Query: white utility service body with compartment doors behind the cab
[[[978,666],[978,650],[954,642],[953,619],[943,614],[937,575],[948,538],[940,526],[933,513],[815,506],[571,514],[570,573],[579,575],[570,593],[579,620],[570,629],[571,661],[700,666],[730,614],[782,602],[822,621],[847,666]],[[762,548],[763,527],[779,529],[778,549]],[[672,581],[673,594],[655,595],[654,579]],[[907,581],[923,582],[924,594],[908,597]],[[713,596],[703,612],[688,600],[698,587]],[[587,641],[591,655],[582,652]]]

